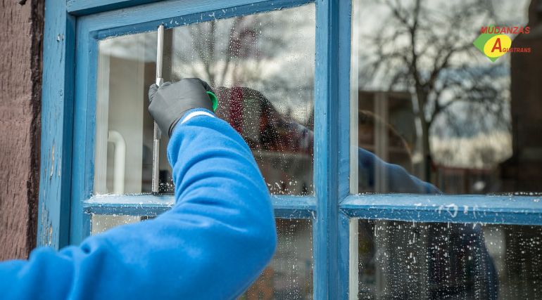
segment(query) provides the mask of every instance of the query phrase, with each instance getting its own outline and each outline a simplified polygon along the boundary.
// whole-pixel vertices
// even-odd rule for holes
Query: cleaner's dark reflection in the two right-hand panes
[[[382,126],[393,148],[389,159],[401,164],[389,164],[358,148],[360,192],[442,194],[434,185],[407,171],[412,165],[410,149],[390,124],[365,110],[359,111],[359,123],[360,145],[374,145],[374,127]],[[377,174],[384,176],[384,183],[378,187]],[[377,228],[381,231],[379,235]],[[393,283],[386,287],[385,295],[381,295],[383,299],[418,298],[420,286],[412,278],[420,276],[420,272],[427,274],[429,299],[498,298],[496,268],[481,226],[360,220],[358,229],[360,282],[375,280],[376,265],[384,269],[379,272],[380,280]],[[386,233],[382,234],[382,230]],[[418,241],[413,243],[416,239]],[[427,260],[425,265],[424,260]],[[367,296],[363,287],[360,292],[360,298]]]

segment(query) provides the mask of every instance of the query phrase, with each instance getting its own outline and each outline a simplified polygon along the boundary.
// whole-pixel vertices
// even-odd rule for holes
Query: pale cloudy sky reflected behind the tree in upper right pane
[[[412,6],[415,3],[413,0],[389,2],[393,3],[395,7],[397,7],[396,4],[398,3],[405,8],[405,11],[410,12],[412,12]],[[478,13],[471,16],[465,15],[458,24],[446,22],[453,12],[472,12],[476,9],[474,6],[481,3],[484,3],[484,5],[479,8],[479,16]],[[507,53],[499,58],[496,63],[492,63],[472,45],[472,42],[479,36],[482,26],[490,24],[500,27],[525,26],[527,24],[529,3],[530,0],[422,1],[423,10],[420,17],[420,27],[423,28],[422,32],[424,34],[427,34],[427,32],[434,34],[433,37],[420,34],[420,39],[418,39],[418,44],[421,46],[417,48],[417,53],[422,52],[422,50],[427,51],[418,63],[422,77],[428,77],[434,66],[434,57],[436,52],[439,51],[439,45],[446,41],[446,36],[451,33],[453,34],[453,40],[457,41],[457,44],[472,47],[453,56],[447,70],[441,72],[439,77],[441,80],[460,77],[458,81],[462,82],[463,86],[472,86],[474,81],[480,82],[491,78],[488,81],[493,81],[493,86],[510,86],[510,54]],[[379,55],[382,53],[397,53],[398,49],[408,48],[411,44],[410,39],[407,34],[397,34],[397,19],[386,5],[386,1],[353,0],[353,6],[353,34],[359,39],[357,53],[353,53],[353,57],[358,59],[359,67],[358,70],[353,70],[353,72],[359,74],[358,80],[361,90],[388,91],[391,87],[391,77],[401,68],[404,68],[404,65],[402,63],[387,65],[377,72],[371,72],[371,67],[379,61]],[[490,16],[492,14],[493,17]],[[412,13],[408,15],[411,16]],[[508,35],[512,39],[515,37],[513,34]],[[372,43],[372,39],[375,37],[384,37],[386,43],[382,48],[383,52],[380,52],[377,46]],[[353,49],[356,51],[355,47]],[[471,76],[472,74],[482,74],[484,70],[491,70],[491,75],[486,75],[485,79],[476,76],[469,79],[465,76],[466,73]],[[491,86],[491,84],[486,86]],[[393,90],[412,92],[412,86],[410,82],[403,82],[403,84],[394,85]],[[454,92],[445,90],[439,98],[439,103],[447,103],[454,96],[457,96],[458,91],[460,93],[460,89]],[[510,100],[508,88],[501,91],[500,97]],[[477,124],[472,119],[472,110],[472,106],[462,103],[451,105],[448,112],[455,115],[457,119],[455,122],[457,124],[453,128],[446,117],[437,117],[431,127],[431,145],[435,155],[434,158],[437,161],[444,162],[446,160],[445,163],[454,166],[481,167],[486,165],[481,162],[481,157],[479,157],[479,149],[484,147],[494,150],[497,161],[503,161],[511,155],[510,133],[502,125],[497,125],[499,120],[510,118],[509,112],[504,112],[503,115],[484,115],[484,117],[479,117],[477,120],[479,124]],[[509,105],[508,110],[510,110]],[[444,158],[439,156],[441,156],[441,152],[446,152],[445,150],[455,153],[455,157],[439,159]]]

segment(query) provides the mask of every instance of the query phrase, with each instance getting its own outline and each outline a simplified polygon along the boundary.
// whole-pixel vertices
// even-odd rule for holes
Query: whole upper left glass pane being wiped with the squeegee
[[[99,42],[96,194],[151,192],[156,37]],[[274,194],[313,194],[314,70],[314,4],[165,30],[164,80],[208,81],[215,114],[244,138]],[[160,193],[174,191],[167,144],[163,135]]]

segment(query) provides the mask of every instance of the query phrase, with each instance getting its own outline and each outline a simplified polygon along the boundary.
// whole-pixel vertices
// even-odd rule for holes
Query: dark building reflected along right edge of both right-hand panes
[[[512,47],[531,48],[530,53],[510,53],[512,157],[500,165],[503,192],[541,192],[542,183],[542,1],[529,6],[529,34],[520,34]],[[524,251],[519,245],[540,239],[535,227],[505,227],[505,268],[510,282],[521,278],[523,299],[539,299],[541,275],[539,252]],[[539,249],[539,247],[537,247]],[[538,250],[537,249],[537,250]],[[535,253],[535,254],[534,254]],[[525,263],[529,268],[525,268]],[[502,279],[500,279],[502,280]],[[512,285],[512,287],[514,287]],[[512,290],[509,287],[503,290]]]

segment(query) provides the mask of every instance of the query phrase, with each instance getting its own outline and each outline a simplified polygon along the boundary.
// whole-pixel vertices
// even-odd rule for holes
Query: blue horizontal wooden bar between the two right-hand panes
[[[515,195],[352,195],[341,210],[363,219],[542,225],[541,200]]]

